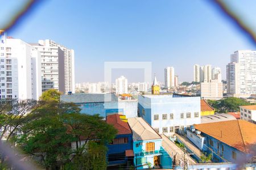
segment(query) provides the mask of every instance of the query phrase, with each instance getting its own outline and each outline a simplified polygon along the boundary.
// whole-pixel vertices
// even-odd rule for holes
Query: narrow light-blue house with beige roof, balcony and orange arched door
[[[135,168],[171,167],[172,159],[162,148],[162,137],[141,117],[128,118],[128,124],[133,131]]]

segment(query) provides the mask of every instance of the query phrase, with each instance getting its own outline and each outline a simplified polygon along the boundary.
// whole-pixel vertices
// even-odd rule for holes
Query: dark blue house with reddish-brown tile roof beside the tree
[[[113,125],[117,129],[117,135],[113,142],[108,145],[108,166],[133,164],[133,134],[127,123],[125,116],[120,114],[111,114],[106,117],[106,123]]]

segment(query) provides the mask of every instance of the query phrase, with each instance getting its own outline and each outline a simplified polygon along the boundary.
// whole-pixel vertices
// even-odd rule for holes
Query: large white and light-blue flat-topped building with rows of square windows
[[[138,95],[138,112],[159,134],[183,133],[201,122],[200,97]]]

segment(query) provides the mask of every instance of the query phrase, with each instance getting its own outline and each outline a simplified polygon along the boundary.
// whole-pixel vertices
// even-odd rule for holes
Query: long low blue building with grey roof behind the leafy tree
[[[127,118],[137,117],[137,100],[120,100],[114,94],[72,94],[61,95],[60,101],[80,105],[81,113],[100,114],[106,117],[108,114],[122,113]]]

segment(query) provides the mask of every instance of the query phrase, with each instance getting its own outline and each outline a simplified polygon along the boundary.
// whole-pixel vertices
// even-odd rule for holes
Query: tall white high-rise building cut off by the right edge
[[[250,97],[256,94],[256,51],[238,50],[226,66],[227,94]]]

